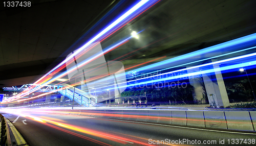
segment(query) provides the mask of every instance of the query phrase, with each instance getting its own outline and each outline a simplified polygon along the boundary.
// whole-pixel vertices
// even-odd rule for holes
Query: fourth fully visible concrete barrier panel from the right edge
[[[172,111],[172,123],[174,125],[186,125],[186,111],[175,110]]]

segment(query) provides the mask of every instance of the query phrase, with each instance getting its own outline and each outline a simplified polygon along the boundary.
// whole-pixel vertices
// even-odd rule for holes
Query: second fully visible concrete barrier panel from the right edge
[[[227,129],[226,119],[223,111],[203,111],[206,128]]]

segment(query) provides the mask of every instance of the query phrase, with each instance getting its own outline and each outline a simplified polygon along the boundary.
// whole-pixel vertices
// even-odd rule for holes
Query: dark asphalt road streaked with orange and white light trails
[[[2,114],[14,124],[30,146],[255,145],[256,140],[255,132],[250,134],[234,131],[200,130],[191,127],[40,112],[2,112]]]

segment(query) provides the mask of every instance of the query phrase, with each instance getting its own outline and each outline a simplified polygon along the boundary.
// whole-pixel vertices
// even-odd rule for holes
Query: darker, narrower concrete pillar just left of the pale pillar
[[[193,68],[193,69],[188,69],[187,73],[193,73],[193,72],[198,72],[200,71],[200,68]],[[188,77],[189,83],[191,86],[194,87],[194,103],[195,104],[206,104],[206,93],[203,85],[203,78],[202,75],[196,75],[196,76],[190,76]]]

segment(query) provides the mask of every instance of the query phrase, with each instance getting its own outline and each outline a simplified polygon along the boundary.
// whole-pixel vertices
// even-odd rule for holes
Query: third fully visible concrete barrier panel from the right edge
[[[203,111],[186,111],[187,126],[205,127]]]

